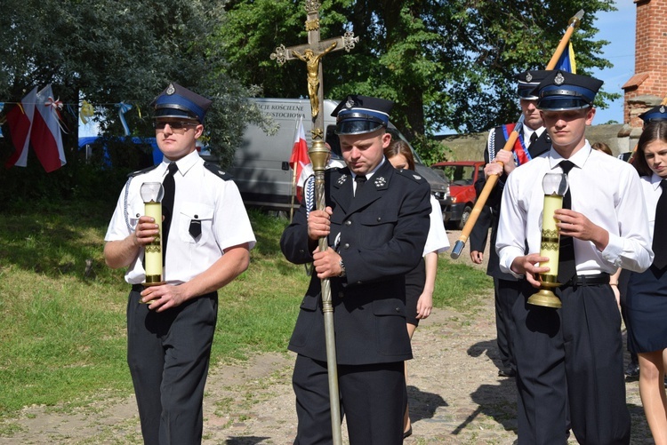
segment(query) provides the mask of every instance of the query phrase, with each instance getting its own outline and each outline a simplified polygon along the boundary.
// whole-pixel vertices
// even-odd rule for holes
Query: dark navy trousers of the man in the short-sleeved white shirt
[[[144,443],[199,444],[218,294],[157,313],[139,303],[141,290],[135,284],[127,303],[127,363]]]

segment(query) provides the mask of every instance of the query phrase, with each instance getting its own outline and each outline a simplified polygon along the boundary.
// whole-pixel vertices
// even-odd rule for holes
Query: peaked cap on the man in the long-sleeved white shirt
[[[567,111],[592,107],[602,81],[588,75],[550,71],[535,87],[537,107],[543,111]]]

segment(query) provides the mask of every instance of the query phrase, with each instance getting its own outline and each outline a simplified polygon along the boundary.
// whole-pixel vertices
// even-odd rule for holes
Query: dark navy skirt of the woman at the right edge
[[[651,353],[667,348],[667,272],[654,266],[632,273],[625,300],[628,349]]]

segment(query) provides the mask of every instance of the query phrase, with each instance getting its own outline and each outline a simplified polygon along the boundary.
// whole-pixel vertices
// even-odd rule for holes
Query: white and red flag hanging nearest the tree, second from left
[[[37,93],[30,143],[47,173],[58,170],[67,163],[60,133],[60,108],[62,103],[53,99],[51,84]]]

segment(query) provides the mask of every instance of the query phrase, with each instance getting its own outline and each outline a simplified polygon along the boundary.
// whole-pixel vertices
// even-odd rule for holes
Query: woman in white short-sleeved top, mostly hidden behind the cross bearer
[[[390,146],[384,149],[384,156],[395,169],[414,171],[413,152],[405,140],[391,139]],[[433,195],[430,195],[430,203],[433,210],[430,212],[430,229],[424,245],[422,261],[412,272],[406,274],[406,322],[407,334],[411,339],[419,321],[428,318],[433,307],[433,290],[435,289],[436,274],[438,273],[438,254],[449,249],[449,239],[442,220],[440,203]],[[407,406],[403,431],[404,438],[413,433]]]

